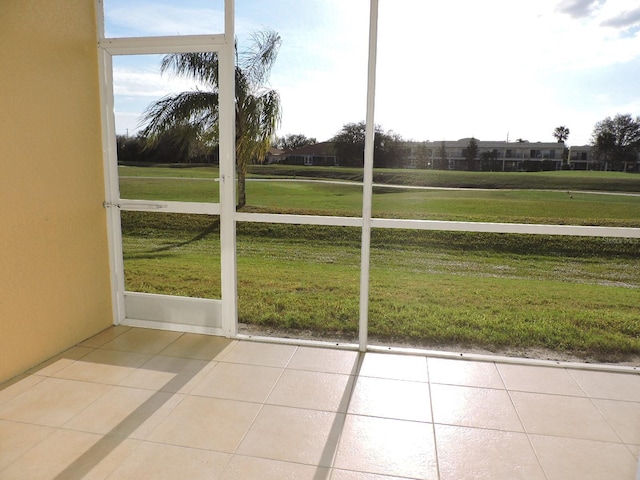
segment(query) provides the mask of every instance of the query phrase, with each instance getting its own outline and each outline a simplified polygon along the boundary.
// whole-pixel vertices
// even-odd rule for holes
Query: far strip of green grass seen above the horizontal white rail
[[[213,170],[193,169],[193,174],[210,177],[167,178],[140,176],[144,172],[165,174],[169,168],[143,168],[132,174],[133,167],[120,179],[123,198],[142,200],[174,200],[187,202],[217,202],[218,183]],[[186,170],[187,173],[191,169]],[[299,170],[306,171],[306,169]],[[334,169],[340,170],[340,169]],[[289,170],[287,170],[289,171]],[[143,173],[144,173],[143,172]],[[407,171],[403,170],[403,174]],[[415,171],[409,171],[415,173]],[[437,172],[440,173],[440,172]],[[443,172],[444,174],[466,172]],[[567,178],[582,178],[575,172],[553,172]],[[586,172],[593,173],[593,172]],[[611,173],[611,172],[607,172]],[[485,175],[473,173],[471,176]],[[498,174],[493,174],[498,175]],[[510,174],[513,176],[542,174]],[[626,180],[612,173],[613,178]],[[622,177],[621,177],[622,175]],[[456,175],[453,175],[454,177]],[[551,176],[551,174],[546,174]],[[607,179],[598,173],[599,178]],[[640,177],[631,176],[635,180]],[[264,179],[263,179],[264,180]],[[603,181],[602,183],[607,183]],[[573,191],[539,190],[414,190],[376,187],[373,195],[373,216],[381,218],[412,218],[472,222],[545,223],[567,225],[607,225],[640,227],[640,196],[604,195]],[[360,216],[362,188],[352,184],[332,184],[291,181],[249,181],[249,203],[246,211],[289,214]]]

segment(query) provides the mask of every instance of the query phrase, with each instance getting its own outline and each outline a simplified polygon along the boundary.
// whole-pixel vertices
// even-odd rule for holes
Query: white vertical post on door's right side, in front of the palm
[[[235,5],[225,0],[224,48],[220,52],[220,268],[222,329],[227,337],[238,332],[236,273],[236,119],[235,119]]]

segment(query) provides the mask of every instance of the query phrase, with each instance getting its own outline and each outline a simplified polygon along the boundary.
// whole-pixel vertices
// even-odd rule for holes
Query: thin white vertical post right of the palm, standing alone
[[[367,78],[367,117],[362,185],[362,244],[360,259],[360,321],[358,346],[367,349],[369,333],[369,254],[371,251],[371,202],[373,197],[373,151],[375,138],[376,54],[378,42],[378,0],[371,0],[369,12],[369,69]]]

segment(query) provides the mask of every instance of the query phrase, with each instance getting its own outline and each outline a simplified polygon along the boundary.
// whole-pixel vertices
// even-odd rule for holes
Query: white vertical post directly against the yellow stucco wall
[[[111,284],[111,309],[114,325],[125,318],[124,310],[124,260],[122,256],[122,227],[120,210],[114,205],[120,200],[118,182],[118,158],[116,150],[116,127],[113,113],[113,66],[111,54],[103,46],[104,2],[96,0],[96,23],[98,30],[98,74],[100,88],[100,116],[102,118],[102,165],[104,170],[105,208],[107,236],[109,242],[109,265]]]

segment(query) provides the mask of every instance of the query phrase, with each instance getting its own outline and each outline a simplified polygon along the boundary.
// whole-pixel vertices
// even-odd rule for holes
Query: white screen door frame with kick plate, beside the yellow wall
[[[225,0],[221,34],[106,38],[103,0],[96,0],[98,72],[101,97],[104,207],[111,265],[115,325],[145,326],[234,337],[237,334],[235,235],[235,18]],[[113,56],[217,52],[219,56],[220,202],[169,202],[120,198],[113,93]],[[125,290],[121,211],[220,216],[221,299],[210,300]]]

